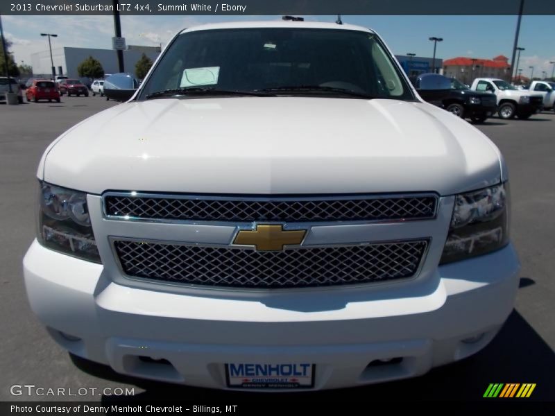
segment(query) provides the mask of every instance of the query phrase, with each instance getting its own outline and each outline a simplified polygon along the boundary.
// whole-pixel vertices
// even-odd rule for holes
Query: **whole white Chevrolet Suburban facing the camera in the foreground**
[[[422,101],[366,28],[188,28],[37,176],[33,311],[123,374],[401,379],[478,352],[513,309],[502,155]]]

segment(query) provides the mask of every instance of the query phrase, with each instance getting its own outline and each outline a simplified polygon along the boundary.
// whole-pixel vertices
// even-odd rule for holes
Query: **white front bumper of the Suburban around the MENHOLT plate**
[[[24,258],[31,307],[69,352],[207,388],[226,388],[224,363],[314,363],[315,389],[424,374],[490,342],[513,309],[518,270],[509,245],[415,284],[187,294],[122,286],[102,265],[37,241]],[[402,361],[368,365],[390,358]]]

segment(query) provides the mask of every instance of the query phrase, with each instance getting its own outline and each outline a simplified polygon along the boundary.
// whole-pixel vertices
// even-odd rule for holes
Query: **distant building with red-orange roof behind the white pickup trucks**
[[[501,78],[509,81],[511,78],[511,64],[504,55],[493,59],[457,58],[446,59],[443,62],[443,75],[456,78],[461,83],[471,84],[475,78]]]

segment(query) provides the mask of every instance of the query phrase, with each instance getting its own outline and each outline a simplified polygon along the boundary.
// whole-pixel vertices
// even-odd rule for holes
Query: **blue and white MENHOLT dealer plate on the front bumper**
[[[230,388],[312,388],[316,365],[309,363],[226,363]]]

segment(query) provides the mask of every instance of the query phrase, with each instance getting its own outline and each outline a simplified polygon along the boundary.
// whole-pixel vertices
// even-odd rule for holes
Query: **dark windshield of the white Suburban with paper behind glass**
[[[341,95],[343,90],[353,98],[413,99],[375,35],[312,28],[182,33],[164,53],[139,99],[187,88],[314,96]]]

